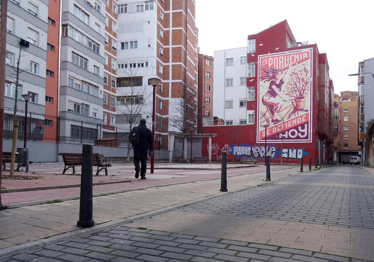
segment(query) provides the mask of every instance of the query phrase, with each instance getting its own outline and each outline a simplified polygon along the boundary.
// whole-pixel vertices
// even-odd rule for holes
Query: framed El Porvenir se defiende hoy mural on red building
[[[312,54],[308,48],[258,56],[257,143],[265,136],[269,142],[312,142]]]

